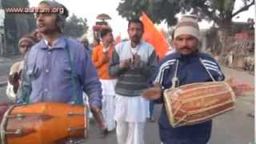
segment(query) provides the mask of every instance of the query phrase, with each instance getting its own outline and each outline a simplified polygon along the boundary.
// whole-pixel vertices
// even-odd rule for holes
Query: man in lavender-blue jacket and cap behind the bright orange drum
[[[39,10],[64,9],[64,13],[36,14],[42,40],[26,58],[26,71],[18,102],[68,102],[82,104],[82,91],[89,97],[90,110],[106,131],[101,119],[102,88],[86,49],[62,33],[68,10],[55,1],[42,1]]]

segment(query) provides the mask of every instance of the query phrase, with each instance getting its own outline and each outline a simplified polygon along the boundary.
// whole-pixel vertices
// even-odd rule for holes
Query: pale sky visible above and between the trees
[[[62,3],[69,10],[70,15],[75,14],[80,18],[87,18],[87,24],[91,27],[94,26],[96,22],[96,17],[98,14],[109,14],[112,18],[109,20],[110,26],[113,28],[114,36],[121,35],[122,38],[127,38],[127,21],[125,18],[122,18],[118,15],[118,11],[116,10],[118,7],[118,3],[121,0],[55,0],[57,2]],[[38,6],[38,3],[41,0],[29,0],[30,6]],[[235,3],[235,10],[238,10],[239,7],[242,6],[241,1],[237,1]],[[247,18],[254,18],[255,21],[255,6],[251,6],[250,10],[243,12],[238,15],[239,18],[234,18],[236,22],[246,22]],[[212,23],[209,22],[200,22],[199,26],[201,29],[206,29],[211,26]],[[159,29],[167,29],[167,26],[164,22],[157,26]],[[89,32],[91,36],[91,32]]]

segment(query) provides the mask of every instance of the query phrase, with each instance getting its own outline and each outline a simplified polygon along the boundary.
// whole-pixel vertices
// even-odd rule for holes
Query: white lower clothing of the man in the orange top
[[[114,86],[116,83],[115,79],[100,79],[102,82],[102,114],[106,121],[108,130],[114,130]]]

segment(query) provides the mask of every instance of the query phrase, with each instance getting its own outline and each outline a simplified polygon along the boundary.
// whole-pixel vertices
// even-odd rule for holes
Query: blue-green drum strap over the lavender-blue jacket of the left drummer
[[[71,53],[70,53],[70,48],[68,46],[68,42],[67,42],[67,39],[65,38],[65,42],[66,42],[66,45],[65,45],[65,50],[68,54],[68,57],[69,57],[69,62],[70,62],[70,70],[71,70],[71,78],[72,78],[72,85],[73,85],[73,94],[72,94],[72,98],[71,98],[71,104],[78,104],[78,90],[77,90],[77,82],[78,82],[78,79],[77,77],[75,76],[76,75],[76,70],[75,70],[75,67],[73,66],[72,64],[72,58],[71,58]]]

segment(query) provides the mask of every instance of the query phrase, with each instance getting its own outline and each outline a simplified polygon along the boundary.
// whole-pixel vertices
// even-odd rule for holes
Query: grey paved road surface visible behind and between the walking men
[[[5,68],[6,69],[6,68]],[[2,65],[0,67],[2,70]],[[226,77],[238,78],[254,86],[254,75],[247,72],[223,68]],[[1,74],[1,72],[0,72]],[[8,73],[7,73],[8,74]],[[0,87],[0,102],[8,99],[5,94],[6,87]],[[161,105],[155,106],[154,116],[158,118]],[[236,101],[236,108],[229,113],[214,118],[214,127],[210,144],[253,144],[254,142],[254,93]],[[99,138],[98,128],[94,122],[90,124],[90,138],[84,143],[116,144],[115,132],[106,138]],[[157,122],[146,123],[146,144],[159,144]]]

